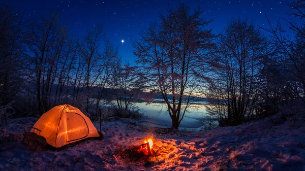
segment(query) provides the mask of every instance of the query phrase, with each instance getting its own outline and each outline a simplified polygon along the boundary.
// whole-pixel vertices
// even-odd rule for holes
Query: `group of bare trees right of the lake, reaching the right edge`
[[[296,100],[305,102],[305,2],[287,5],[300,21],[286,21],[289,30],[280,21],[275,27],[269,21],[269,28],[258,28],[237,18],[218,37],[209,57],[214,78],[206,95],[212,105],[209,114],[221,125],[238,125],[276,114]]]

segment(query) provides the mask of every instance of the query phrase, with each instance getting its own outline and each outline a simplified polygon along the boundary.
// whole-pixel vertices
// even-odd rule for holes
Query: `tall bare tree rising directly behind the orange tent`
[[[40,15],[27,25],[25,45],[28,52],[25,72],[36,86],[38,114],[50,108],[52,78],[56,77],[57,61],[62,57],[62,49],[67,38],[67,28],[60,24],[56,13],[46,17]]]

